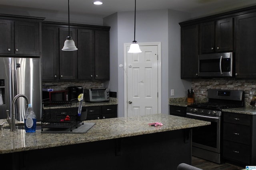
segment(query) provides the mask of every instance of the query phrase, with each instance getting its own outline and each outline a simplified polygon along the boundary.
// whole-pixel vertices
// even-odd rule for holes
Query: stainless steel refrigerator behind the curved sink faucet
[[[24,94],[41,121],[42,115],[42,80],[41,60],[39,58],[0,57],[0,119],[9,116],[12,100],[17,94]],[[27,103],[24,98],[16,100],[16,120],[24,121]]]

